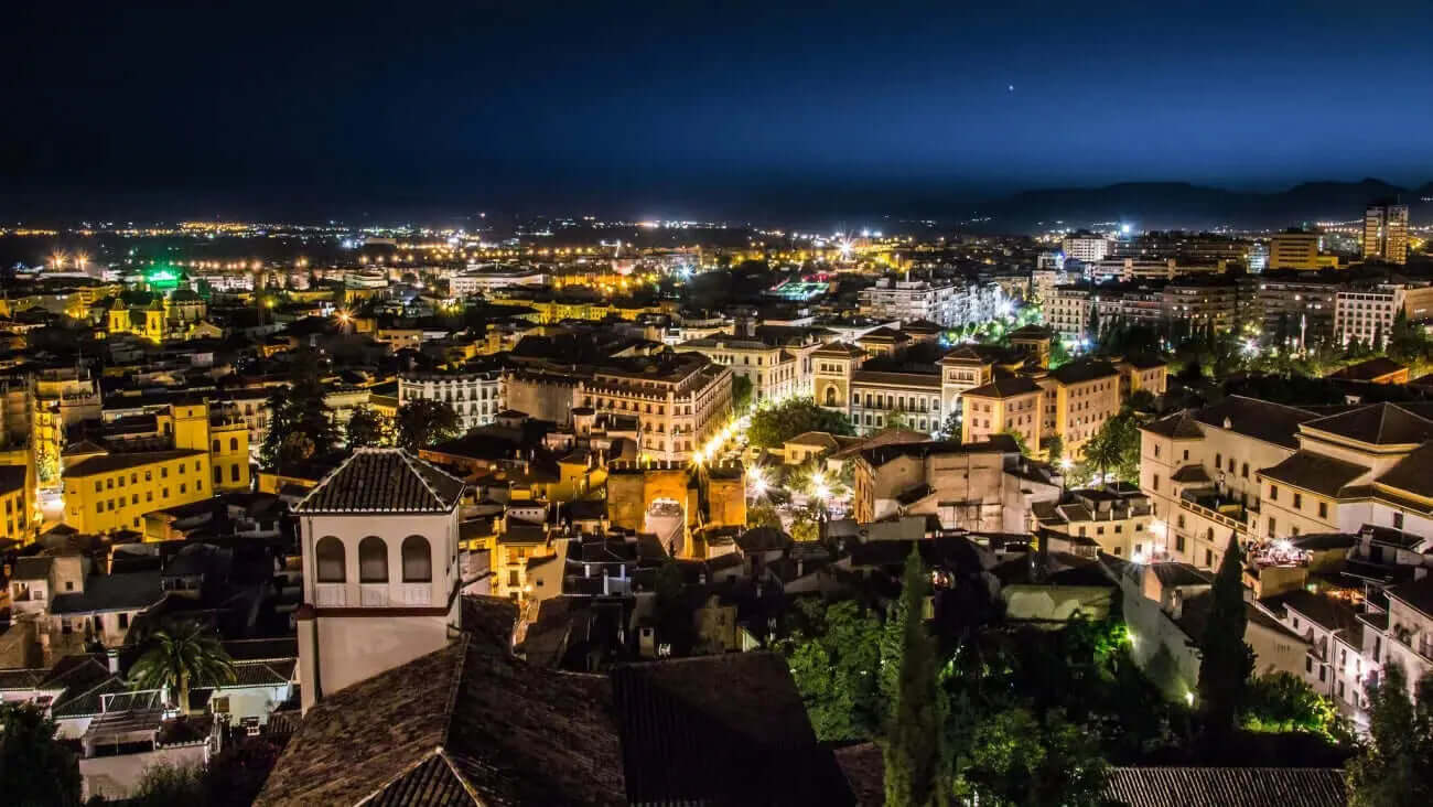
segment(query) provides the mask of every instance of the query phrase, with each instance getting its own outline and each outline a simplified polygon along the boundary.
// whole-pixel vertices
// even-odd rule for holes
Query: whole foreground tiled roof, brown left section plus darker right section
[[[476,645],[464,635],[328,694],[257,804],[853,801],[780,655],[643,664],[606,677]]]

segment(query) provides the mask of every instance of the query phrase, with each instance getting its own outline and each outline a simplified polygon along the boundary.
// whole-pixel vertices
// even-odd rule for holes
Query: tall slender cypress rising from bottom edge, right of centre
[[[940,661],[936,641],[921,615],[930,576],[914,546],[906,559],[901,578],[901,608],[906,624],[901,632],[900,677],[896,702],[886,731],[886,804],[923,807],[944,804],[950,777],[944,754],[944,694],[939,685]]]

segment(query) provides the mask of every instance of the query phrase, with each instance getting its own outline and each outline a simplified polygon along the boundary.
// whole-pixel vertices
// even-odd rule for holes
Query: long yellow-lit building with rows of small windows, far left
[[[103,454],[64,470],[64,523],[82,533],[139,529],[145,513],[214,495],[198,449]]]

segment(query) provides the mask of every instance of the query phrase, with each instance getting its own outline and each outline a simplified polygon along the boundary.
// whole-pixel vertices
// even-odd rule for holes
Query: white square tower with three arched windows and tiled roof
[[[327,692],[447,646],[459,629],[463,490],[400,449],[358,449],[299,502],[305,712]]]

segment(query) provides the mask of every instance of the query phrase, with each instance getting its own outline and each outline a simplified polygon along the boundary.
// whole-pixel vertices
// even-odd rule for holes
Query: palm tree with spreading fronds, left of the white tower
[[[189,687],[195,682],[234,681],[234,659],[219,636],[193,619],[166,619],[140,642],[140,655],[129,668],[135,689],[169,687],[179,711],[189,714]]]

